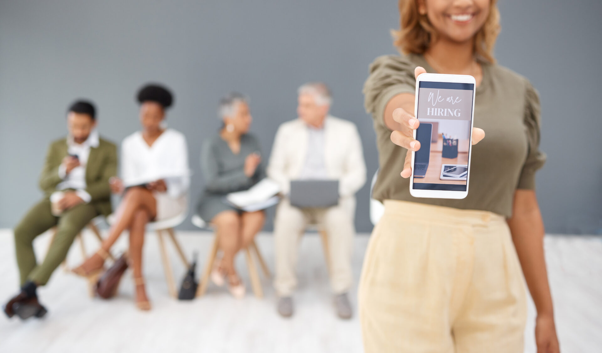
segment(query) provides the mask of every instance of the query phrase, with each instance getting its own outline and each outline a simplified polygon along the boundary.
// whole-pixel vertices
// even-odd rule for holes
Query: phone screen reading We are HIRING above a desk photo
[[[420,81],[418,85],[418,114],[420,126],[416,138],[420,150],[430,147],[428,158],[414,155],[414,189],[466,191],[467,180],[441,179],[443,164],[468,165],[471,118],[473,116],[474,84]],[[429,123],[429,124],[425,124]],[[430,129],[422,134],[421,129]],[[462,174],[468,168],[444,171]],[[464,174],[468,179],[468,173]]]

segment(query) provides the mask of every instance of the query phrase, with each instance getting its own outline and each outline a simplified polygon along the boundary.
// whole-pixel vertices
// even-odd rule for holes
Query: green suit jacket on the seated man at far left
[[[58,176],[58,167],[67,156],[67,138],[54,141],[46,153],[46,162],[40,175],[40,189],[49,197],[63,181]],[[111,187],[109,178],[117,175],[117,147],[115,144],[99,139],[98,147],[90,149],[88,164],[85,167],[85,191],[90,194],[93,204],[101,215],[111,214]]]

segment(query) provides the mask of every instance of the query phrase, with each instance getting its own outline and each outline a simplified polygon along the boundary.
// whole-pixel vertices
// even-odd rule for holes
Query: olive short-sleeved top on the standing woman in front
[[[409,193],[409,178],[400,176],[406,149],[391,142],[383,120],[385,106],[397,94],[415,93],[414,69],[436,73],[422,55],[385,55],[370,65],[364,84],[365,108],[372,114],[379,150],[379,175],[373,197],[487,210],[512,215],[516,189],[535,189],[535,171],[545,162],[539,150],[539,96],[523,76],[497,64],[481,63],[483,79],[476,88],[474,127],[485,139],[473,146],[468,196],[462,200],[416,198]]]

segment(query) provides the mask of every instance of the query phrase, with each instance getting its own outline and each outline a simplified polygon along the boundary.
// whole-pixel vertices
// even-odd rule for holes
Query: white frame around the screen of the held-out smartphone
[[[412,175],[410,176],[410,194],[414,197],[429,197],[429,198],[465,198],[468,195],[468,186],[470,185],[470,160],[473,156],[473,124],[474,124],[474,96],[476,92],[476,81],[473,76],[470,75],[446,75],[442,73],[421,73],[416,79],[416,93],[414,100],[414,116],[420,121],[418,115],[418,88],[420,82],[453,82],[459,84],[473,84],[473,108],[470,113],[470,133],[468,135],[468,173],[466,178],[466,190],[465,191],[452,191],[452,190],[423,190],[414,189],[414,155],[412,151]],[[416,138],[416,130],[414,130],[414,138]]]

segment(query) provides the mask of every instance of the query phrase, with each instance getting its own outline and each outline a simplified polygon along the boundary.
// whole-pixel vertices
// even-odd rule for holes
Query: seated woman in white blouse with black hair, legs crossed
[[[147,85],[138,92],[141,132],[134,132],[122,143],[122,177],[111,180],[114,193],[123,195],[109,235],[101,248],[81,266],[78,275],[98,276],[105,259],[123,230],[129,230],[129,257],[134,268],[136,305],[150,310],[142,278],[144,229],[150,221],[161,221],[184,212],[190,185],[188,152],[184,135],[162,127],[165,109],[172,105],[172,94],[164,87]]]

